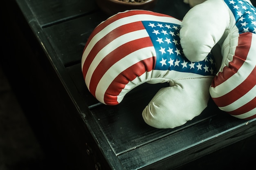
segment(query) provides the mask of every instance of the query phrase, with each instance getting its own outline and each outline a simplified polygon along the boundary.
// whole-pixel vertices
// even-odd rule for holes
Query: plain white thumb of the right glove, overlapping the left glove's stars
[[[229,26],[229,13],[221,0],[207,0],[191,8],[180,29],[180,44],[191,62],[198,62],[211,52]]]

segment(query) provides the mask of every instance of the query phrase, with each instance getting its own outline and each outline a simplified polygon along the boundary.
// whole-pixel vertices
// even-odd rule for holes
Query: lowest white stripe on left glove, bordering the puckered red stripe
[[[137,56],[136,60],[135,56]],[[96,98],[100,102],[104,103],[104,94],[108,86],[112,83],[113,79],[115,79],[122,71],[126,70],[128,67],[152,56],[156,56],[156,53],[154,47],[150,46],[130,53],[126,57],[116,62],[112,67],[110,67],[110,69],[108,69],[108,71],[106,71],[106,73],[99,81],[95,92]]]

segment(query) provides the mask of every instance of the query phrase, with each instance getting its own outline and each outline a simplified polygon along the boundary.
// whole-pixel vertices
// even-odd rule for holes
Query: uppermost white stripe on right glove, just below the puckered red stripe
[[[254,34],[253,34],[254,35]],[[232,91],[234,88],[239,86],[247,77],[249,74],[252,72],[252,70],[256,66],[256,51],[255,51],[255,46],[256,44],[256,36],[252,36],[252,44],[249,49],[249,53],[247,55],[247,59],[245,60],[244,64],[241,66],[241,68],[238,70],[236,74],[231,76],[229,79],[227,79],[225,82],[222,84],[216,86],[215,88],[211,87],[210,93],[211,97],[217,98],[221,97],[222,95],[225,95]]]

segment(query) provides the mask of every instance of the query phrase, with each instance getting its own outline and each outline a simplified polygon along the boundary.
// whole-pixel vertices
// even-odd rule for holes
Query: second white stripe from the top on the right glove
[[[224,107],[219,107],[221,110],[225,110],[226,112],[231,112],[233,110],[236,110],[243,105],[247,104],[250,102],[252,99],[254,99],[256,96],[256,86],[254,86],[249,92],[247,92],[243,97],[240,97],[238,100],[235,102],[224,106]]]

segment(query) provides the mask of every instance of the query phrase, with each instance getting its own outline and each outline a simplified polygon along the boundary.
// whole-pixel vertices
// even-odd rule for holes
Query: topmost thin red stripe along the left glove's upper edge
[[[90,35],[89,39],[87,40],[86,44],[85,44],[85,48],[83,51],[85,51],[86,47],[88,46],[89,42],[92,40],[92,38],[99,33],[102,29],[104,29],[106,26],[108,26],[109,24],[111,24],[112,22],[115,22],[116,20],[119,20],[121,18],[125,18],[125,17],[129,17],[132,15],[141,15],[141,14],[148,14],[148,15],[155,15],[155,16],[164,16],[164,17],[171,17],[169,15],[165,15],[162,13],[155,13],[152,11],[141,11],[141,10],[134,10],[134,11],[128,11],[125,13],[118,13],[117,15],[108,18],[106,21],[102,22],[101,24],[99,24],[94,31],[92,32],[92,34]]]

